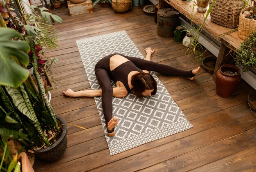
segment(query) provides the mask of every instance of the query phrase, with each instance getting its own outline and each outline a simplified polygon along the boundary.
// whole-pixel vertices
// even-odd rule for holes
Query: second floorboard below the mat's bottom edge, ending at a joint
[[[223,132],[223,130],[225,130],[225,132]],[[120,159],[119,161],[108,163],[97,168],[97,171],[124,171],[126,169],[129,169],[130,171],[141,170],[150,165],[155,165],[172,157],[185,154],[191,150],[199,149],[242,132],[243,130],[241,130],[238,125],[234,122],[230,122],[220,127],[214,127],[209,130],[193,134],[189,137],[181,138],[171,143],[166,143],[155,149],[146,150],[139,154]]]

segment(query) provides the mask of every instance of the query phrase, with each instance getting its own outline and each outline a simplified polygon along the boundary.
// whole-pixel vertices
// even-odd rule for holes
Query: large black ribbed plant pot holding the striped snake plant
[[[65,121],[60,116],[56,116],[58,125],[65,124]],[[35,151],[34,154],[37,158],[43,161],[56,161],[60,159],[67,148],[67,125],[63,125],[63,132],[61,137],[56,141],[56,143],[50,145],[45,149],[40,149]]]

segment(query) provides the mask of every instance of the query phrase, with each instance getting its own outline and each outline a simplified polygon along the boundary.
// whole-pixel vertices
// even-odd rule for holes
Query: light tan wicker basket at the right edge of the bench
[[[249,8],[251,7],[244,8],[239,16],[238,36],[242,40],[246,39],[249,34],[256,31],[256,20],[250,20],[242,16],[243,12]]]

